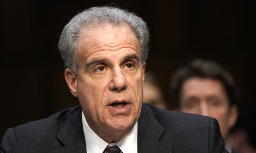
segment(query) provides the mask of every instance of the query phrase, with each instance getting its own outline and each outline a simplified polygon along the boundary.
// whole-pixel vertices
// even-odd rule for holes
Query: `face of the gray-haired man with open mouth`
[[[144,68],[138,39],[128,26],[84,31],[78,43],[76,91],[94,130],[127,130],[138,120]],[[96,132],[97,133],[97,132]]]

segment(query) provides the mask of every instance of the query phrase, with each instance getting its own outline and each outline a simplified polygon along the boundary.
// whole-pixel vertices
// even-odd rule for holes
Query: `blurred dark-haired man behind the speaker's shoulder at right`
[[[214,62],[195,60],[174,73],[172,96],[181,111],[216,118],[230,151],[228,135],[238,109],[234,80],[227,71]]]

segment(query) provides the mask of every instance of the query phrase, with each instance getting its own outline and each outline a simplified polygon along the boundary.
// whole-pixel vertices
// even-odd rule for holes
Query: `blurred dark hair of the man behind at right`
[[[217,63],[197,59],[177,70],[171,79],[171,95],[175,107],[180,106],[182,84],[193,77],[211,78],[221,81],[229,98],[229,105],[237,104],[238,93],[233,77]]]

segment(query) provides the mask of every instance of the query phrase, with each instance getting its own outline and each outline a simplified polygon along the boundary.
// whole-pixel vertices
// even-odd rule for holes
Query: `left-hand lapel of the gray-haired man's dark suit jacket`
[[[61,153],[86,153],[86,144],[82,125],[82,108],[79,107],[75,112],[64,121],[57,139],[63,144],[62,148],[54,150]]]

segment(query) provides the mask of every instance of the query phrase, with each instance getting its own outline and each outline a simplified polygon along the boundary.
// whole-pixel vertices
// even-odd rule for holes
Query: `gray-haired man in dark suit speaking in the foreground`
[[[2,152],[226,152],[215,119],[142,106],[149,32],[133,13],[89,8],[59,41],[80,105],[7,130]]]

